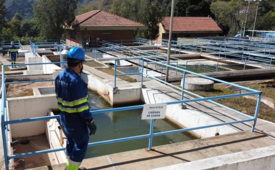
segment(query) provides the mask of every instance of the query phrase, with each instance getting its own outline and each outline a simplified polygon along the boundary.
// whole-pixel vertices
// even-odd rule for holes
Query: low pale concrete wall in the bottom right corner
[[[267,146],[154,170],[275,170],[275,146]]]

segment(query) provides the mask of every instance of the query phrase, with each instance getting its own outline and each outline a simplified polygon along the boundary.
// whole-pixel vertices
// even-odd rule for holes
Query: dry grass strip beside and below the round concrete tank
[[[175,85],[180,86],[180,84],[175,84]],[[214,97],[214,96],[235,94],[234,92],[232,92],[227,88],[216,86],[216,85],[214,85],[214,90],[209,92],[199,91],[199,90],[190,90],[190,91],[202,97]],[[256,108],[256,100],[245,98],[245,97],[232,97],[232,98],[217,99],[214,101],[220,104],[223,104],[227,107],[230,107],[232,109],[243,112],[247,115],[254,116],[254,112]],[[266,104],[261,103],[258,118],[275,122],[275,109],[272,109]]]

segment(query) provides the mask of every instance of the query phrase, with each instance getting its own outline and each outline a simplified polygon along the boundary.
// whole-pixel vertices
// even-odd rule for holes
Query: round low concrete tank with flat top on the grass
[[[181,79],[181,87],[183,86],[183,79]],[[198,77],[187,77],[185,78],[186,90],[201,90],[201,91],[211,91],[214,87],[214,81],[206,78]]]

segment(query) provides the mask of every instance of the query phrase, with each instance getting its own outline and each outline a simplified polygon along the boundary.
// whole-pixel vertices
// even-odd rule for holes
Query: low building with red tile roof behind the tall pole
[[[169,38],[170,17],[164,17],[159,24],[159,40]],[[222,32],[210,17],[174,17],[172,39],[180,37],[217,36]]]

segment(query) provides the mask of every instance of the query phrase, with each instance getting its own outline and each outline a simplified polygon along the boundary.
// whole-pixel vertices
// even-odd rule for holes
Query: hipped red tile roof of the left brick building
[[[76,16],[76,20],[80,26],[144,26],[138,22],[119,17],[103,10],[84,13]]]

